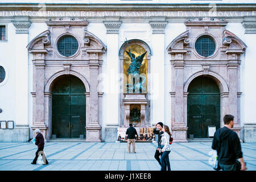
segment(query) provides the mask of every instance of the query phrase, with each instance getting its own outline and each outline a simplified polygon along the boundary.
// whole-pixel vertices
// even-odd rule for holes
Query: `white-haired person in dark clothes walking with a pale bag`
[[[43,135],[40,133],[39,129],[35,130],[36,133],[36,137],[35,137],[35,144],[38,146],[38,150],[36,151],[36,156],[35,159],[33,160],[33,162],[31,164],[36,164],[36,160],[38,160],[38,153],[42,153],[41,155],[43,156],[43,150],[44,150],[44,137]],[[43,158],[45,157],[45,155],[43,156]],[[48,164],[47,159],[45,158],[44,160],[44,165]]]

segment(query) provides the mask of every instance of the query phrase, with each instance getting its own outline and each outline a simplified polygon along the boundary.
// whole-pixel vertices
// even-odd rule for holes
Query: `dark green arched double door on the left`
[[[85,86],[79,78],[58,78],[52,89],[52,135],[85,138],[85,103]]]

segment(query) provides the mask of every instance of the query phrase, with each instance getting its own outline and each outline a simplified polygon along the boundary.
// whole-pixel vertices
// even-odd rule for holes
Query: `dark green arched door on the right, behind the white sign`
[[[208,126],[220,128],[220,89],[209,77],[196,77],[188,86],[188,138],[207,138]]]

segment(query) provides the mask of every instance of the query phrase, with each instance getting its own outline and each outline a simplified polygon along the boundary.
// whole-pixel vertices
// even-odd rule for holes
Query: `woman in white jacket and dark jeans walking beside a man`
[[[160,149],[160,152],[163,152],[160,159],[161,171],[165,171],[166,166],[167,166],[167,171],[171,171],[169,154],[171,152],[170,144],[172,143],[172,137],[171,137],[172,134],[170,133],[169,127],[166,125],[164,125],[163,131],[164,133],[162,134],[162,138],[160,141],[160,144],[163,146],[163,148]]]

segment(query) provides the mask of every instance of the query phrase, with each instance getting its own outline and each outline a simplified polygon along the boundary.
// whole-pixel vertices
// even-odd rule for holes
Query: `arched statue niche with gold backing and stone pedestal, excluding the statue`
[[[129,46],[128,46],[129,45]],[[142,55],[146,52],[146,55],[143,57],[142,65],[139,69],[139,78],[137,82],[135,81],[136,78],[129,77],[127,73],[127,69],[130,68],[131,58],[127,54],[129,52],[129,47],[131,53],[135,55],[135,57]],[[127,52],[126,52],[127,51]],[[121,48],[119,49],[119,72],[123,75],[122,76],[122,84],[119,89],[119,102],[121,106],[120,112],[120,122],[119,126],[128,127],[131,118],[130,113],[134,107],[137,107],[141,113],[141,120],[135,127],[147,127],[150,126],[150,100],[148,99],[148,95],[150,94],[150,59],[151,59],[151,49],[146,42],[143,40],[138,39],[131,39],[127,42],[123,43]],[[127,89],[126,84],[133,84],[136,83],[143,83],[143,77],[145,77],[145,86],[144,92],[141,91],[143,89]],[[129,82],[130,79],[130,82]],[[134,80],[132,80],[134,79]],[[140,82],[141,79],[141,82]]]

